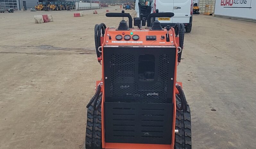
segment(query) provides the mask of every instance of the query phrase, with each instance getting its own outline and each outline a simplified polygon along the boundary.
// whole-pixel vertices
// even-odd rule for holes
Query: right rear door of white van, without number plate
[[[189,19],[192,17],[192,8],[192,0],[174,0],[173,23],[189,23]]]

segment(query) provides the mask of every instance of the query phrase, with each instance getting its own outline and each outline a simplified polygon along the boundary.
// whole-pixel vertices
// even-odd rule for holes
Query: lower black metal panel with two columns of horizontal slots
[[[173,104],[105,102],[108,143],[171,144]]]

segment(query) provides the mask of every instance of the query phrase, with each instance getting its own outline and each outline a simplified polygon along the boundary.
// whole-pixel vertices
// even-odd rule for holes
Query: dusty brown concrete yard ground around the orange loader
[[[120,21],[106,18],[106,9],[120,12],[115,6],[78,18],[67,11],[0,15],[0,148],[82,148],[85,106],[101,77],[94,25]],[[40,14],[54,22],[34,24]],[[255,148],[255,26],[194,15],[178,67],[194,149]]]

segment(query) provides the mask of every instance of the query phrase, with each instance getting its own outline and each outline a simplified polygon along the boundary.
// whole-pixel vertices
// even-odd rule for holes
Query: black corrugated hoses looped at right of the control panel
[[[180,41],[179,44],[180,44],[181,49],[183,50],[185,26],[183,23],[176,23],[174,26],[174,30],[175,30],[176,36],[179,35],[179,41]],[[178,53],[178,62],[181,61],[181,54],[182,54],[182,51],[180,53]]]

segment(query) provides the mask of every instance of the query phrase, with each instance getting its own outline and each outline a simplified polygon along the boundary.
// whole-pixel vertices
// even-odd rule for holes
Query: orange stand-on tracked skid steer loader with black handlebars
[[[129,13],[106,16],[123,19],[117,28],[95,25],[102,81],[96,82],[87,105],[85,148],[191,149],[190,107],[176,81],[183,23],[166,28],[158,20],[151,24],[153,17],[174,16],[158,10],[147,20],[143,14],[134,18],[136,29]]]

